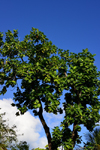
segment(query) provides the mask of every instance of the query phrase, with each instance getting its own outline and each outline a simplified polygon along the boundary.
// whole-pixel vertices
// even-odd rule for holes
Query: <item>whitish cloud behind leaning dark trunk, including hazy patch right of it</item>
[[[47,139],[45,136],[44,129],[39,118],[35,118],[27,111],[24,115],[16,117],[16,112],[18,112],[17,107],[12,107],[12,99],[3,99],[0,100],[0,113],[6,112],[4,119],[9,119],[7,123],[12,127],[13,125],[17,126],[17,133],[24,134],[23,136],[18,136],[19,141],[27,141],[30,145],[30,148],[44,148],[47,145]],[[47,125],[51,128],[54,126],[59,126],[63,120],[64,113],[54,115],[53,113],[43,113]]]

